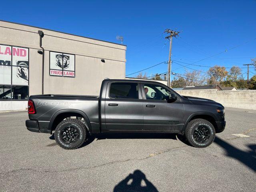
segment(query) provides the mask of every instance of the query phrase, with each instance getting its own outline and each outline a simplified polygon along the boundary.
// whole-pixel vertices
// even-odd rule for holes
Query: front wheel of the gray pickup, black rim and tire
[[[215,138],[215,129],[207,120],[194,119],[188,123],[185,137],[193,147],[207,147],[212,144]]]

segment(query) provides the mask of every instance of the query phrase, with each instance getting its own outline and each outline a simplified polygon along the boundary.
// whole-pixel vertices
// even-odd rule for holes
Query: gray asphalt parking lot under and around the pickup
[[[118,134],[64,150],[27,118],[0,113],[0,191],[256,191],[254,110],[226,108],[226,129],[201,149],[173,134]]]

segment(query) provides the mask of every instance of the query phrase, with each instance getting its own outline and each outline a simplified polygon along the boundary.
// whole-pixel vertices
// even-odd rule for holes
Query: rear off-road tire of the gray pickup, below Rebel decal
[[[80,134],[80,136],[76,140],[76,142],[73,142],[70,144],[65,143],[64,141],[62,141],[62,138],[61,138],[62,137],[61,131],[68,126],[75,127]],[[56,143],[64,149],[77,149],[80,146],[82,146],[82,144],[86,140],[86,126],[80,120],[77,120],[77,119],[63,120],[56,127],[55,132],[54,132],[54,138],[55,138]]]

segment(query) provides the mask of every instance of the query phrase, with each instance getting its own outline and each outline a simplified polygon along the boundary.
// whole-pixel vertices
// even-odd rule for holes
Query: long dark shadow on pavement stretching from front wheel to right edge
[[[251,144],[248,145],[248,148],[250,149],[248,152],[244,152],[230,144],[228,144],[226,141],[220,139],[219,137],[215,137],[214,142],[224,148],[226,151],[226,156],[232,157],[240,162],[242,162],[244,165],[248,166],[254,172],[256,172],[256,145]]]

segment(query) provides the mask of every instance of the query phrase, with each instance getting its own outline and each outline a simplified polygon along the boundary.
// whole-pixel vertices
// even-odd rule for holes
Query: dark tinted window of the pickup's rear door
[[[110,86],[110,98],[138,99],[138,84],[118,82]]]

